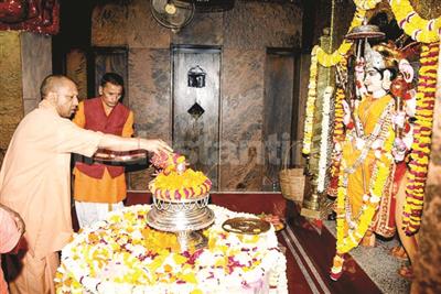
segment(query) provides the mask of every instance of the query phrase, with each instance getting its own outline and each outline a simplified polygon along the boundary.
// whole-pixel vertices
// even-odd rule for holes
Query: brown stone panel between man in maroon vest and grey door
[[[129,51],[129,105],[135,111],[135,128],[143,138],[172,140],[171,68],[169,48]],[[150,172],[130,173],[130,188],[146,190]]]

